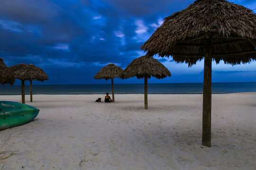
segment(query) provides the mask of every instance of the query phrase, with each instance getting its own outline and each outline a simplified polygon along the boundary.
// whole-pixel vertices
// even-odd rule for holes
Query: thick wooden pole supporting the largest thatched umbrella
[[[206,34],[204,47],[202,145],[211,145],[211,38]]]

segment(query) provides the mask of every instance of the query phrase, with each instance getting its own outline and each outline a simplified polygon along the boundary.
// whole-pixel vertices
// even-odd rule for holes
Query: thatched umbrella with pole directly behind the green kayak
[[[31,80],[31,73],[27,64],[17,64],[9,67],[15,78],[21,80],[21,102],[25,104],[25,80]]]

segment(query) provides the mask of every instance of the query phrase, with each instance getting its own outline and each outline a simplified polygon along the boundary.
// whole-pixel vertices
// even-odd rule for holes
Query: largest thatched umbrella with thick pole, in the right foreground
[[[165,18],[141,46],[148,56],[173,56],[189,66],[204,59],[202,144],[211,142],[211,61],[236,65],[256,59],[256,15],[226,0],[197,0]]]

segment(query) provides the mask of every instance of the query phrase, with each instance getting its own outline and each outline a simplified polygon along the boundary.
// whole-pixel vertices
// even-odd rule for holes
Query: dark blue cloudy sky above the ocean
[[[233,0],[250,9],[255,0]],[[0,0],[0,58],[7,66],[43,68],[40,85],[106,84],[93,76],[114,63],[121,68],[144,55],[140,46],[174,12],[194,0]],[[255,10],[254,10],[255,11]],[[149,83],[202,82],[203,61],[192,68],[158,58],[172,76]],[[212,64],[213,82],[256,82],[256,61],[232,67]],[[131,78],[115,83],[144,83]],[[16,81],[16,85],[20,84]]]

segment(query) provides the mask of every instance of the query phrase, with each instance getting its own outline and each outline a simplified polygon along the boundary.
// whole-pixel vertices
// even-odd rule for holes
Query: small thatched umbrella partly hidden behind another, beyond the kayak
[[[38,68],[37,66],[34,66],[33,64],[28,64],[28,69],[31,74],[31,79],[30,81],[30,102],[33,102],[32,98],[32,80],[38,80],[38,81],[44,81],[44,80],[49,80],[48,76],[44,72],[42,68]]]

